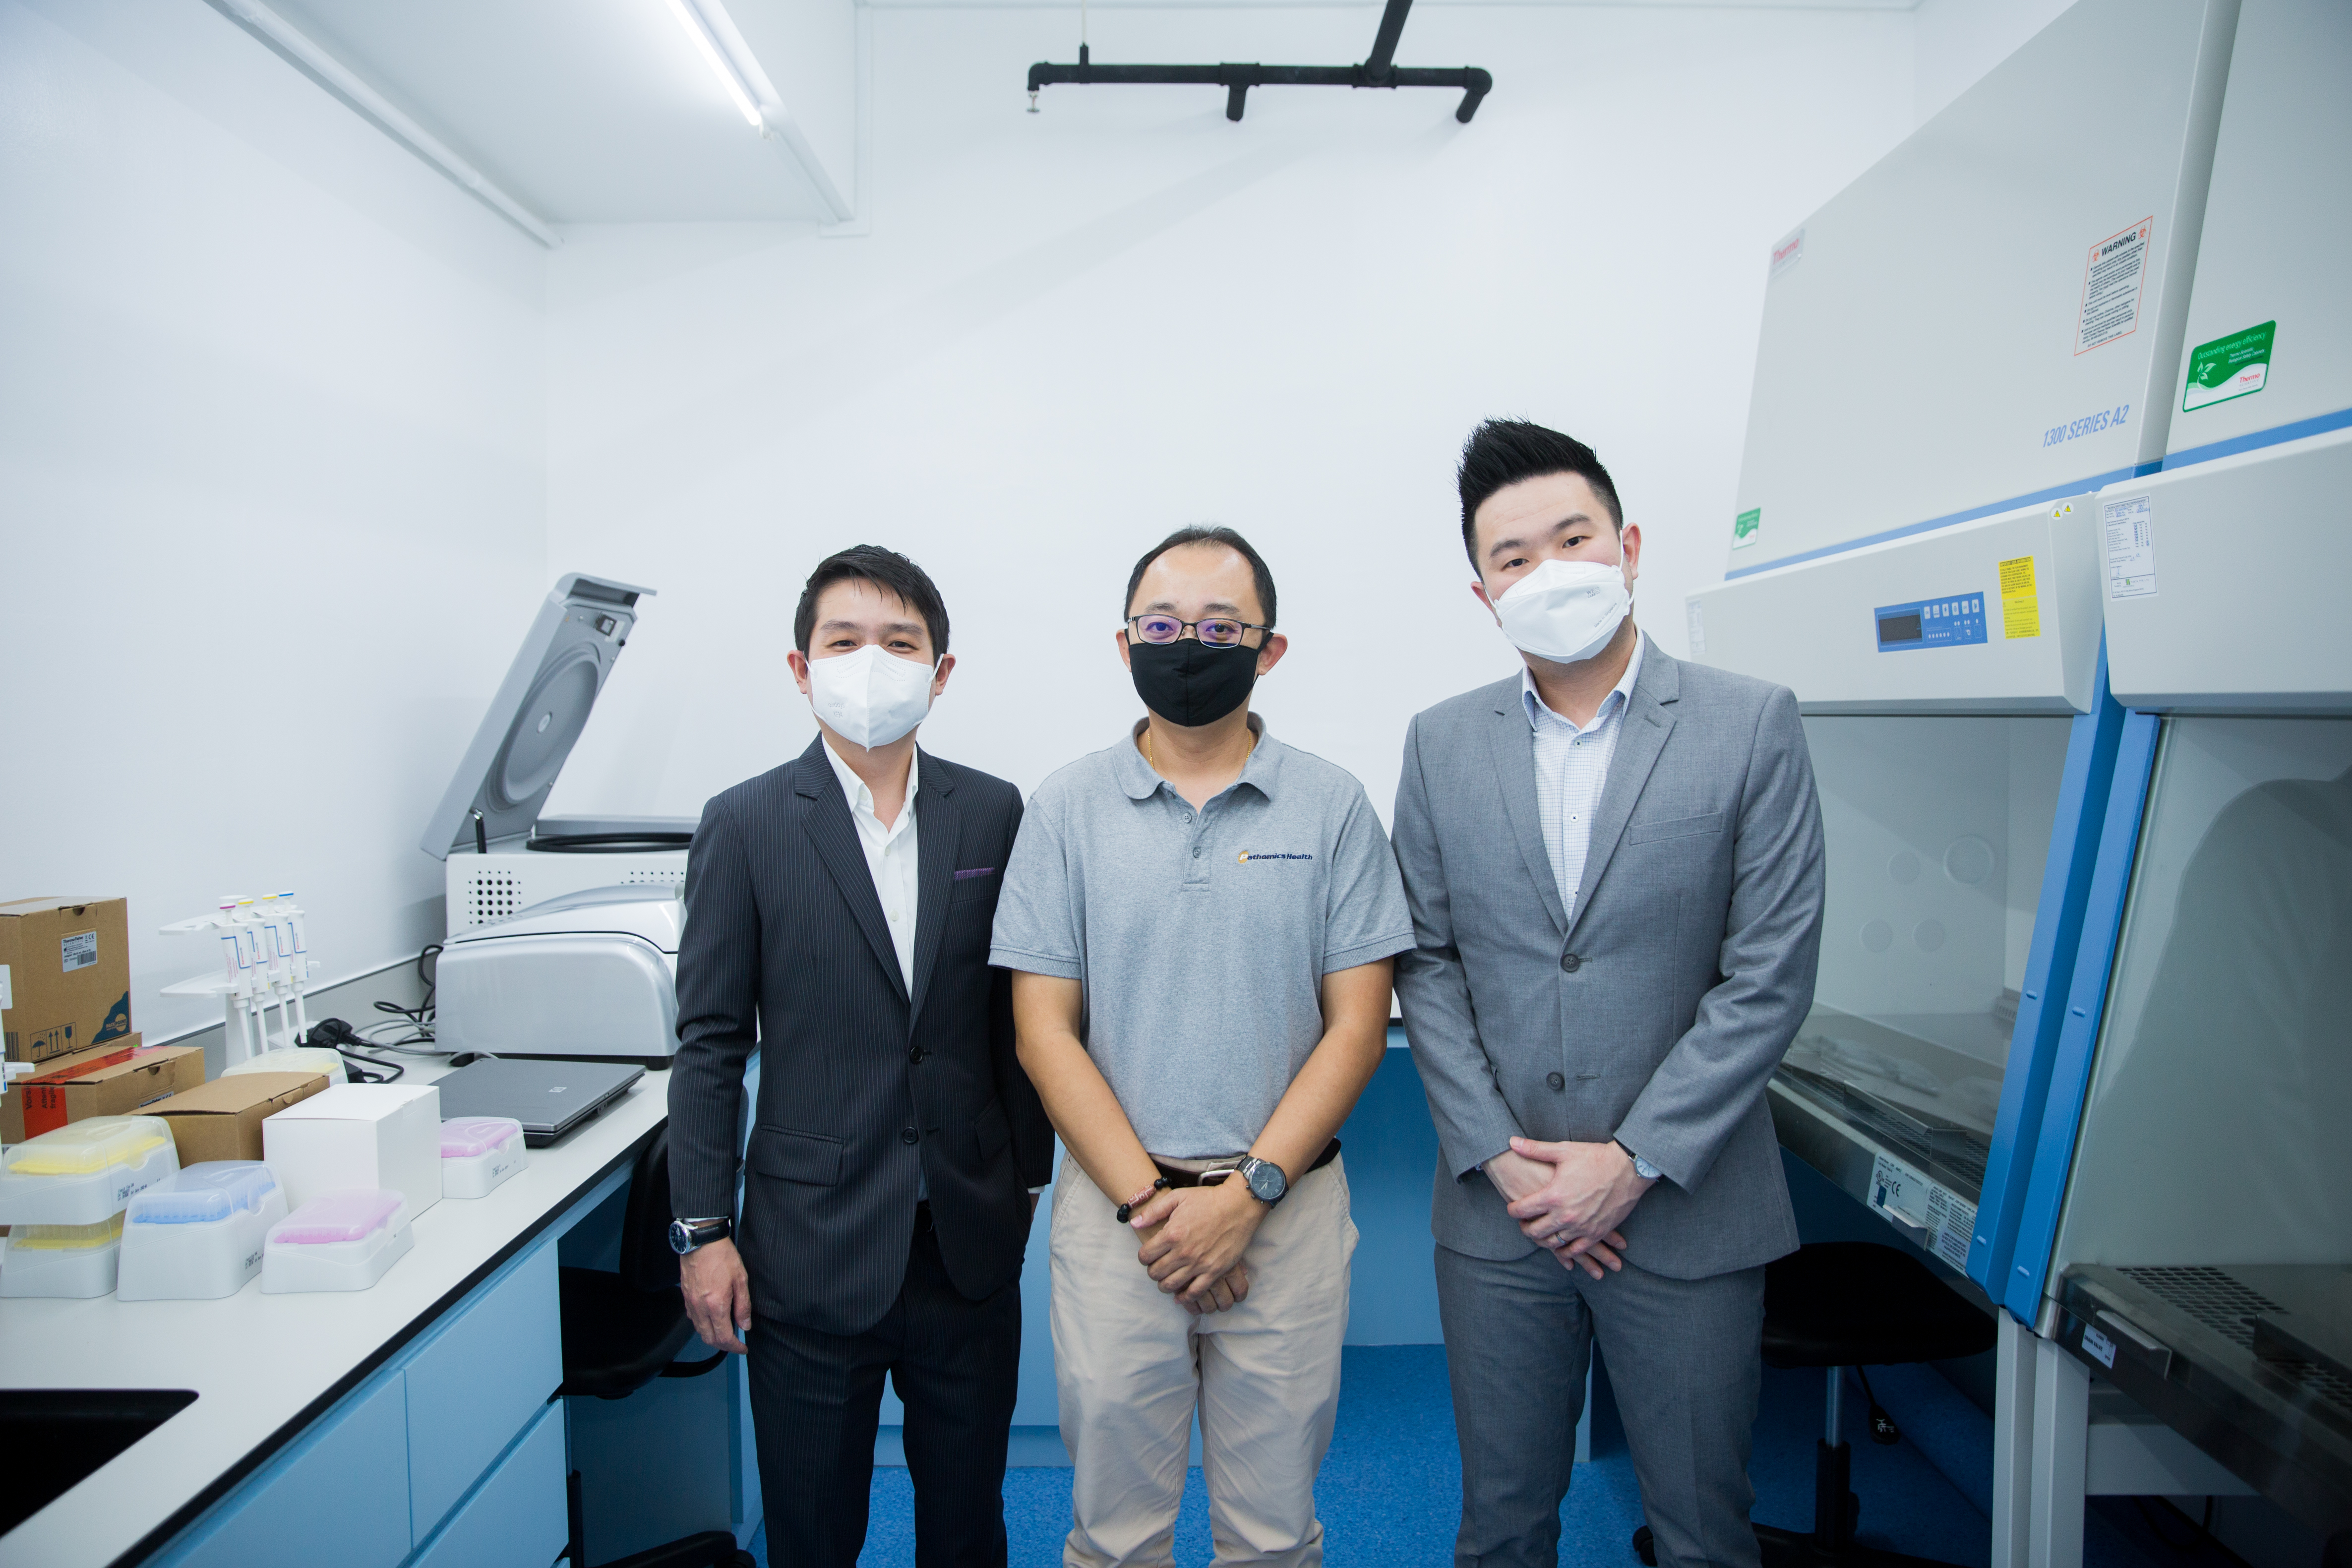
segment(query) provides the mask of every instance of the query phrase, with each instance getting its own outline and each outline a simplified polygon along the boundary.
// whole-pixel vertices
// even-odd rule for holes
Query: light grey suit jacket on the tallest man
[[[1430,1227],[1472,1258],[1534,1244],[1477,1171],[1515,1133],[1621,1138],[1665,1173],[1625,1258],[1705,1279],[1797,1246],[1764,1084],[1813,1004],[1820,802],[1797,698],[1642,654],[1592,813],[1576,919],[1536,818],[1519,679],[1414,719],[1397,997],[1437,1121]]]

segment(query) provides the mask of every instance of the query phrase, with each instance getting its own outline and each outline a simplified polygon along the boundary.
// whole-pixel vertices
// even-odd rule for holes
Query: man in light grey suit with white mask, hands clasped
[[[1418,715],[1397,785],[1454,1561],[1557,1561],[1597,1338],[1658,1561],[1755,1568],[1764,1265],[1797,1246],[1764,1084],[1820,952],[1797,701],[1635,630],[1642,531],[1583,442],[1489,421],[1458,482],[1526,668]]]

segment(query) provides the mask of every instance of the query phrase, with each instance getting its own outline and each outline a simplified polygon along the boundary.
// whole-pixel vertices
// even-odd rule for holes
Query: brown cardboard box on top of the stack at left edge
[[[125,900],[0,903],[0,1032],[12,1063],[45,1063],[132,1032]]]

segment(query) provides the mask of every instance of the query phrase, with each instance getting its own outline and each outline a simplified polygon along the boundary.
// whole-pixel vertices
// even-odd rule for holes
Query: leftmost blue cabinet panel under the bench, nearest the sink
[[[562,1486],[557,1483],[557,1502]],[[172,1568],[393,1568],[409,1554],[409,1425],[402,1375],[365,1387],[233,1490]],[[557,1542],[560,1544],[560,1542]]]

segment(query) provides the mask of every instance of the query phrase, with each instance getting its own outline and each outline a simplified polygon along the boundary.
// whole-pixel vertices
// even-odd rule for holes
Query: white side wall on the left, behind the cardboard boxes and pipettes
[[[0,898],[440,929],[423,816],[546,592],[541,254],[195,0],[0,2]]]

